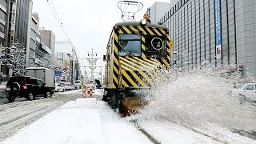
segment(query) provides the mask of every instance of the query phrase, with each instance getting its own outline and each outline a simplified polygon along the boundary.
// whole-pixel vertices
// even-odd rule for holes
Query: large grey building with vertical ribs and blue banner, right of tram
[[[169,27],[179,68],[202,63],[256,77],[256,0],[179,0],[158,22]]]

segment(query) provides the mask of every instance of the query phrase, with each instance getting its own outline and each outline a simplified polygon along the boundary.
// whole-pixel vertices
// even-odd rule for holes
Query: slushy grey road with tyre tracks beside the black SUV
[[[6,98],[0,98],[0,142],[50,111],[77,98],[81,98],[81,90],[55,93],[52,98],[37,98],[34,101],[17,98],[15,102],[8,103]]]

